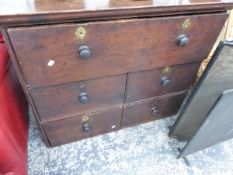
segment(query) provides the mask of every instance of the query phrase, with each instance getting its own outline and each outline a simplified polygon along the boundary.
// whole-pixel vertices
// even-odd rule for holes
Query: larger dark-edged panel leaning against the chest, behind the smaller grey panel
[[[190,139],[224,90],[233,88],[232,44],[219,46],[183,106],[170,136]]]

